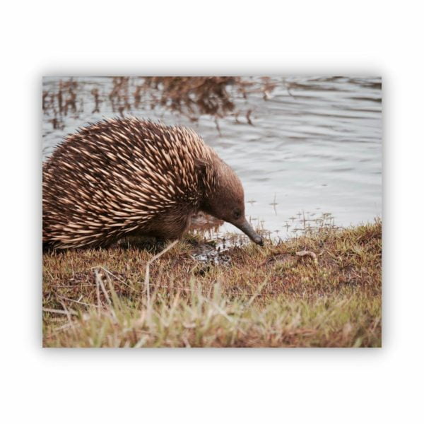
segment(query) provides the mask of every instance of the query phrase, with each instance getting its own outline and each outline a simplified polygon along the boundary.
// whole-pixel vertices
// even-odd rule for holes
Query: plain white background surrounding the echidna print
[[[2,422],[423,419],[420,3],[73,0],[1,6]],[[42,75],[290,73],[383,76],[384,347],[43,350]]]

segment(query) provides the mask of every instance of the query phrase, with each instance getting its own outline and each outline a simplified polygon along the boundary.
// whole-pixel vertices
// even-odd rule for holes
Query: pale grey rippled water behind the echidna
[[[112,78],[73,78],[76,110],[59,115],[49,106],[59,81],[44,78],[43,158],[78,126],[117,117],[108,94]],[[138,117],[192,126],[242,179],[246,213],[274,237],[292,235],[305,223],[324,218],[337,226],[372,221],[382,208],[382,90],[378,77],[273,77],[275,88],[236,95],[240,115],[198,122],[162,107],[151,109],[132,97],[138,78],[130,78],[129,102]],[[254,78],[259,87],[259,78]],[[93,89],[98,90],[99,112]],[[233,90],[235,91],[235,90]],[[69,99],[69,96],[68,96]],[[66,98],[63,100],[66,101]],[[251,111],[248,123],[246,112]],[[324,214],[324,215],[323,215]],[[321,221],[318,221],[321,222]],[[225,224],[223,232],[238,231]]]

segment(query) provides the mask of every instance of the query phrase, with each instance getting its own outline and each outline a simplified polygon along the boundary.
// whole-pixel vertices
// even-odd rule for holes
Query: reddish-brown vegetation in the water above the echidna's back
[[[238,76],[117,76],[112,78],[109,93],[100,93],[98,88],[90,91],[95,105],[92,113],[99,113],[106,107],[124,117],[126,113],[164,107],[192,121],[209,115],[215,119],[218,129],[218,119],[229,114],[236,120],[245,114],[246,122],[253,124],[252,110],[237,110],[235,96],[247,98],[249,93],[260,92],[268,98],[274,84],[268,77],[259,81],[254,83],[252,78]],[[83,90],[77,81],[69,78],[60,81],[54,90],[43,91],[42,110],[52,115],[54,128],[61,127],[61,117],[78,112],[77,105],[83,108]]]

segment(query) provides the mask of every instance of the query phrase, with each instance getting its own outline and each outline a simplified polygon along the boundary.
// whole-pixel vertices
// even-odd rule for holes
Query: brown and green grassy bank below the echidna
[[[232,247],[229,264],[196,261],[189,236],[151,264],[150,303],[153,252],[46,253],[43,346],[381,346],[381,232],[377,220]]]

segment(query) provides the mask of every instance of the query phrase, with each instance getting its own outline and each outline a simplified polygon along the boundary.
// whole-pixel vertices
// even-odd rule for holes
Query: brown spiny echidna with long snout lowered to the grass
[[[245,218],[240,179],[192,129],[132,117],[90,124],[66,137],[42,177],[44,247],[175,240],[198,211],[262,244]]]

